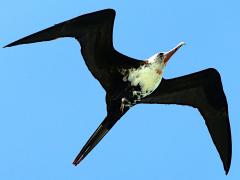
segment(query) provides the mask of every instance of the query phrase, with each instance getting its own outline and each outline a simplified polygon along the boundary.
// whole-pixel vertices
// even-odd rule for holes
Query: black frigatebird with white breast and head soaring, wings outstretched
[[[199,110],[227,174],[232,154],[231,130],[228,105],[219,72],[209,68],[173,79],[162,78],[168,60],[184,43],[146,60],[130,58],[114,49],[114,18],[113,9],[96,11],[56,24],[5,46],[62,37],[73,37],[80,43],[88,69],[106,91],[107,116],[73,164],[77,165],[83,160],[134,105],[178,104]]]

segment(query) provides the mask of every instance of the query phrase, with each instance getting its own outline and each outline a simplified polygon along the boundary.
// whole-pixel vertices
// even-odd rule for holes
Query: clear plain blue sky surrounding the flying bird
[[[84,143],[106,115],[105,92],[74,39],[0,49],[0,178],[5,180],[236,180],[240,178],[238,0],[1,2],[0,46],[81,14],[116,10],[114,46],[146,59],[181,48],[165,78],[209,67],[222,76],[233,158],[225,176],[200,113],[137,105],[77,167]]]

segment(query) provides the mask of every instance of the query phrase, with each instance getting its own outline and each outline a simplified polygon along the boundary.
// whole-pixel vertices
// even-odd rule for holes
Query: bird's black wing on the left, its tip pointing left
[[[116,54],[112,42],[114,18],[113,9],[85,14],[24,37],[5,47],[74,37],[81,44],[81,53],[89,70],[106,89],[111,76],[109,67],[113,63],[113,54]]]

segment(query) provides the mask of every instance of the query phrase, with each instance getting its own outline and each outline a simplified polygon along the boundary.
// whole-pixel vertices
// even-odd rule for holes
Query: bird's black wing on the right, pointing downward
[[[163,80],[142,103],[180,104],[198,108],[223,162],[226,174],[232,156],[228,106],[221,78],[215,69]]]

